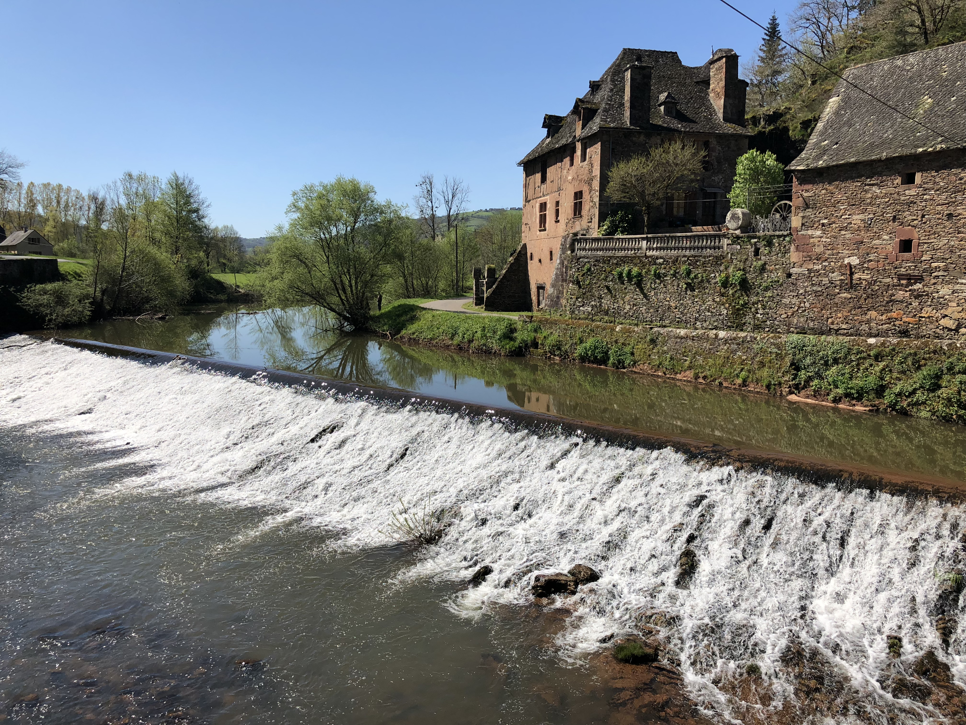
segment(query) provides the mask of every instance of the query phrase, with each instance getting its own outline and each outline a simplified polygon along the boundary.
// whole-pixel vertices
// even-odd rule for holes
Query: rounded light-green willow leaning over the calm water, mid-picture
[[[339,327],[364,329],[383,288],[402,210],[376,188],[339,176],[292,192],[261,284],[270,304],[317,304]]]

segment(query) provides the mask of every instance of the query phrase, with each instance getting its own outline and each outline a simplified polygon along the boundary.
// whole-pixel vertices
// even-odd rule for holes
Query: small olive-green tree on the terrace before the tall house
[[[607,195],[611,201],[635,204],[650,225],[654,211],[674,191],[688,191],[701,176],[704,151],[694,143],[674,138],[652,146],[644,154],[611,167]]]

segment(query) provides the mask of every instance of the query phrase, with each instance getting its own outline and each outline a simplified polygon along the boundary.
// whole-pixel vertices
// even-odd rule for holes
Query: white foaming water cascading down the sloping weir
[[[11,337],[0,347],[31,342]],[[820,651],[867,703],[871,714],[856,722],[936,715],[878,684],[891,661],[887,634],[901,635],[903,662],[932,650],[966,685],[962,627],[947,652],[930,614],[943,576],[962,565],[959,506],[842,492],[701,466],[671,449],[537,436],[493,420],[338,401],[49,342],[0,350],[0,365],[0,425],[24,436],[80,434],[92,448],[124,449],[128,461],[146,464],[147,473],[103,496],[156,490],[264,506],[272,511],[264,527],[298,518],[339,532],[338,545],[356,549],[391,543],[380,530],[400,500],[451,507],[452,526],[401,586],[420,577],[467,579],[492,565],[482,586],[446,603],[467,617],[497,604],[529,605],[536,573],[592,565],[603,578],[572,597],[561,656],[579,661],[606,647],[607,635],[657,623],[692,696],[718,718],[738,716],[734,688],[725,685],[749,663],[769,682],[771,707],[793,697],[781,667],[792,641]],[[309,443],[332,423],[340,426]],[[680,589],[687,546],[698,565]],[[962,619],[958,600],[956,607]],[[653,613],[661,616],[648,620]]]

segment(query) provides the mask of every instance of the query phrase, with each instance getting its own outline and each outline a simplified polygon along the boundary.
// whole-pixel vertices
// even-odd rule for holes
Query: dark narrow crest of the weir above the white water
[[[513,429],[526,429],[535,435],[572,435],[587,441],[600,441],[625,449],[670,448],[688,459],[712,466],[731,466],[735,470],[757,470],[763,474],[784,474],[816,485],[834,486],[843,491],[865,489],[900,496],[928,496],[962,503],[966,501],[966,482],[949,478],[929,478],[891,471],[880,471],[863,466],[838,463],[805,456],[794,456],[770,451],[739,449],[706,443],[688,438],[655,435],[631,428],[619,428],[601,423],[534,413],[518,408],[489,407],[451,398],[425,395],[397,388],[347,383],[306,373],[278,370],[271,367],[247,365],[213,358],[145,350],[107,342],[53,337],[53,342],[88,350],[110,357],[129,358],[146,364],[168,364],[183,361],[201,372],[222,373],[242,380],[274,383],[302,391],[324,391],[355,400],[369,400],[399,408],[465,415],[477,420],[492,420]]]

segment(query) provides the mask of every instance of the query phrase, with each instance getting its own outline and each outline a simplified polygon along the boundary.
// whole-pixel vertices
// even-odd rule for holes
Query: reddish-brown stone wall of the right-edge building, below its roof
[[[837,334],[966,335],[964,200],[961,150],[796,171],[791,274],[805,296],[791,318]]]

